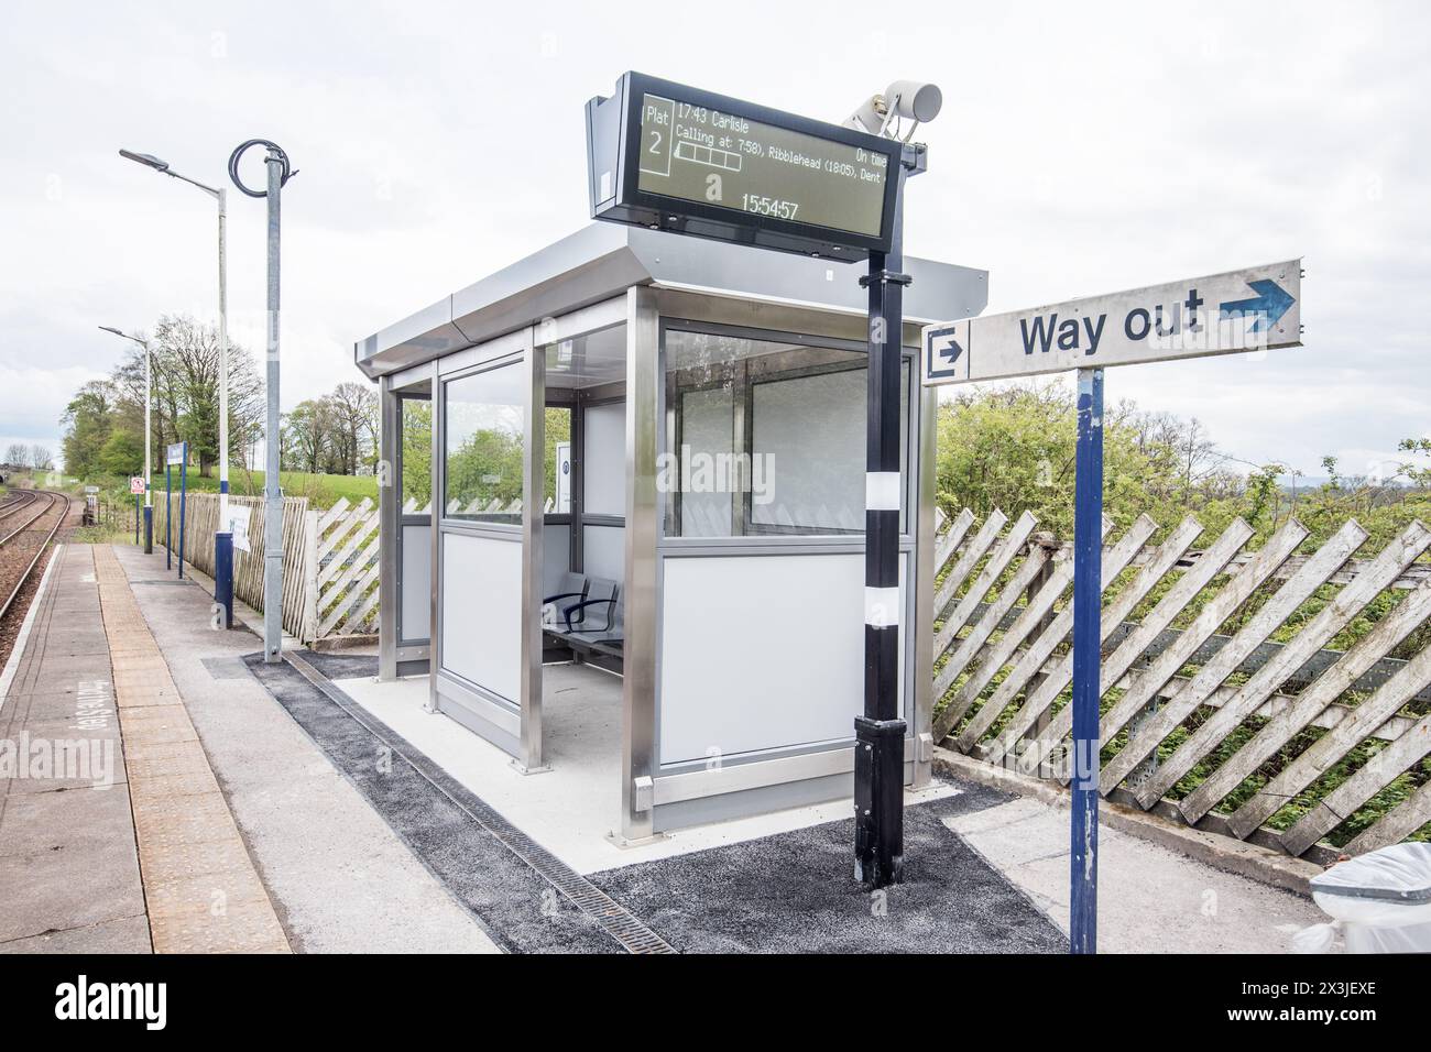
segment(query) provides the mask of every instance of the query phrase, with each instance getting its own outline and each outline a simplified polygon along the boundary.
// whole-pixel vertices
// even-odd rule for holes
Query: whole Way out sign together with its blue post
[[[1078,371],[1070,953],[1098,950],[1103,368],[1299,346],[1301,281],[1301,260],[1289,259],[924,328],[926,385]]]

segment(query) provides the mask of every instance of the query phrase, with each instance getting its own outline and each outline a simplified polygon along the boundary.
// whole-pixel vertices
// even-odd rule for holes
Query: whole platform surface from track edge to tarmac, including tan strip
[[[494,952],[210,601],[162,551],[57,550],[0,673],[0,749],[84,751],[0,779],[0,950]]]

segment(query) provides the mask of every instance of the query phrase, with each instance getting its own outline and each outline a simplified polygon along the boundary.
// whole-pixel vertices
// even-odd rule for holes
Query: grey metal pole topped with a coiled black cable
[[[239,179],[243,153],[263,146],[268,156],[268,189],[250,190]],[[250,198],[268,198],[268,414],[263,428],[263,661],[276,664],[283,650],[283,488],[279,479],[279,222],[283,185],[298,175],[288,155],[268,139],[249,139],[229,156],[229,177]]]

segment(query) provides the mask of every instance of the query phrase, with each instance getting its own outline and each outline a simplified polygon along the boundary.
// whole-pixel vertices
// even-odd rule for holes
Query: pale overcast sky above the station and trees
[[[880,10],[880,14],[874,14]],[[1431,432],[1431,6],[63,3],[0,37],[0,444],[216,313],[205,182],[262,136],[283,196],[283,405],[355,339],[588,222],[582,103],[628,69],[840,120],[934,80],[907,250],[990,311],[1305,256],[1305,346],[1109,374],[1228,452],[1321,474]],[[253,152],[252,179],[262,177]],[[230,193],[230,331],[262,348],[263,203]],[[851,281],[854,275],[851,273]]]

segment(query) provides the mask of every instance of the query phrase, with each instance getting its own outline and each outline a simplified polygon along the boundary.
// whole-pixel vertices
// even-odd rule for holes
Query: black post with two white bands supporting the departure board
[[[871,252],[864,475],[864,714],[854,719],[854,879],[886,887],[904,867],[904,720],[899,719],[900,345],[904,286],[904,165],[889,177],[894,236]]]

